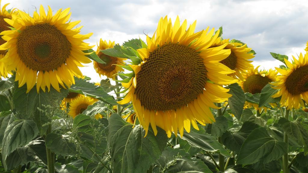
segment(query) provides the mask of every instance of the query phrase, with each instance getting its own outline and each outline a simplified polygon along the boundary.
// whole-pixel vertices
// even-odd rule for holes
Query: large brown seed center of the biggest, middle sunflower
[[[183,45],[165,44],[150,53],[137,75],[135,94],[149,110],[175,110],[203,92],[206,69],[199,54]]]

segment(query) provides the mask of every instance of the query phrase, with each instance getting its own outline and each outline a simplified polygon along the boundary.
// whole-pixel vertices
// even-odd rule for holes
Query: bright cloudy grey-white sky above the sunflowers
[[[73,21],[81,20],[83,34],[93,33],[87,42],[95,45],[99,38],[123,43],[131,38],[152,35],[161,17],[197,20],[196,30],[223,26],[223,38],[241,40],[253,50],[254,65],[265,69],[281,63],[269,52],[297,56],[304,52],[308,40],[308,4],[306,1],[278,0],[2,0],[9,8],[33,14],[42,4],[52,10],[71,8]],[[96,48],[95,48],[96,49]],[[99,80],[92,66],[83,68],[86,75]]]

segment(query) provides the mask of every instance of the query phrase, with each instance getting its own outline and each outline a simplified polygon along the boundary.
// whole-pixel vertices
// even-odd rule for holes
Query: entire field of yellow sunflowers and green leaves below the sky
[[[0,172],[308,172],[308,54],[271,52],[284,65],[264,70],[222,27],[167,16],[95,51],[70,9],[7,6]],[[107,79],[90,82],[89,63]]]

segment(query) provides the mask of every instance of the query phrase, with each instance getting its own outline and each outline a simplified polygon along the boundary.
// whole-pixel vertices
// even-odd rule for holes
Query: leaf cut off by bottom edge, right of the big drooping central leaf
[[[157,159],[156,164],[160,167],[160,171],[177,173],[180,171],[200,171],[212,173],[201,159],[190,158],[188,153],[183,149],[168,147],[163,151],[162,155]]]

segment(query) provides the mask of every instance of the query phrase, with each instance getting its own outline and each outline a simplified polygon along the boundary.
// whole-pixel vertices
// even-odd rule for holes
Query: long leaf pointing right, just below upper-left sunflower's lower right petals
[[[99,99],[105,103],[115,105],[116,101],[103,88],[95,86],[94,83],[75,77],[75,84],[71,86],[69,92],[75,92]],[[64,98],[64,97],[63,97]]]

